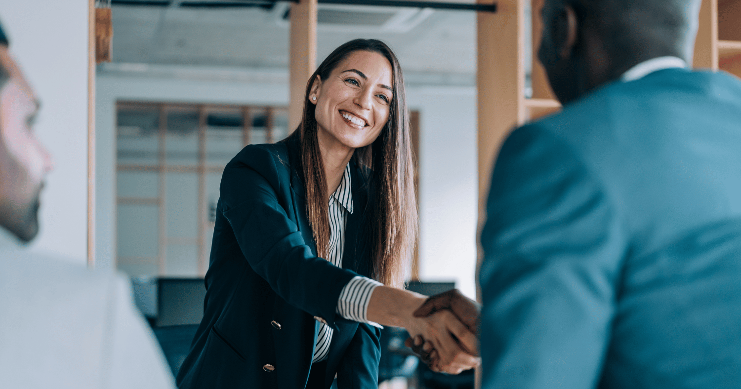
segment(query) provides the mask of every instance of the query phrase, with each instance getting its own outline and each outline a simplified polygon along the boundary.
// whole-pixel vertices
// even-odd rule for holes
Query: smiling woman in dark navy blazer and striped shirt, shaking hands
[[[179,388],[377,388],[379,324],[430,340],[442,370],[477,363],[455,316],[416,318],[425,296],[397,289],[417,232],[409,127],[396,56],[356,39],[310,77],[291,136],[227,164]]]

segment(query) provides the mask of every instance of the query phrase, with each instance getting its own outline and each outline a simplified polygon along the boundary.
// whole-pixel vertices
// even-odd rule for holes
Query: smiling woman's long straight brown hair
[[[359,165],[370,170],[367,177],[371,182],[370,207],[365,217],[364,231],[368,234],[368,242],[371,242],[368,250],[373,263],[368,265],[371,265],[374,279],[385,285],[402,287],[411,270],[419,222],[404,76],[391,48],[376,39],[355,39],[337,47],[309,79],[301,125],[291,137],[298,136],[300,140],[307,216],[318,254],[327,258],[330,238],[329,194],[316,136],[316,106],[309,102],[309,95],[316,76],[322,80],[328,79],[340,62],[359,50],[384,56],[391,63],[393,72],[393,99],[388,122],[372,144],[356,149],[353,155]],[[362,212],[356,208],[358,211]]]

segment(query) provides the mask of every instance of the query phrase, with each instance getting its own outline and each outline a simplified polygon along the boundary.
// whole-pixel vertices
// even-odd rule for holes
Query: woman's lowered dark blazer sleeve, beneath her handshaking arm
[[[381,330],[360,323],[337,367],[337,388],[377,389]]]

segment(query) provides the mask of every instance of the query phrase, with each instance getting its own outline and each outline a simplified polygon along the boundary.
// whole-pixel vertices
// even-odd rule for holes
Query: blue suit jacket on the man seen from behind
[[[659,70],[509,136],[483,388],[741,388],[741,82]]]

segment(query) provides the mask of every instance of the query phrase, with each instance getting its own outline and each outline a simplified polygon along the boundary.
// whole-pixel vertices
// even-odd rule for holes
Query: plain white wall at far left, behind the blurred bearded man
[[[87,256],[87,0],[0,0],[10,50],[41,99],[36,132],[55,167],[32,250]]]

